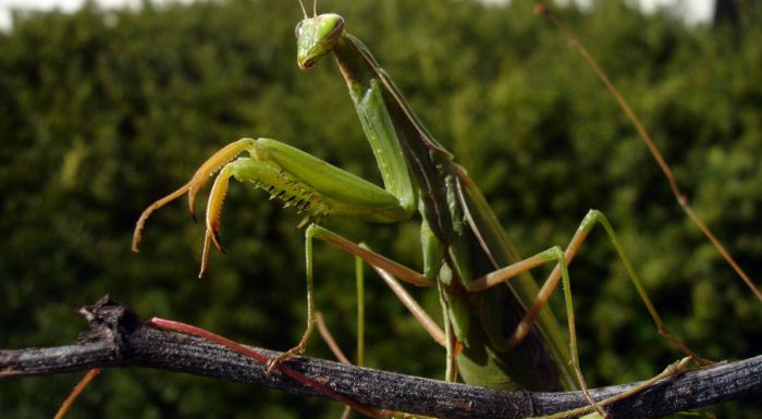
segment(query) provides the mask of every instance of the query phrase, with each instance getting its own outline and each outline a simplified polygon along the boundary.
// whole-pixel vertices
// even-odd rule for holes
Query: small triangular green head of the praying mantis
[[[325,13],[305,17],[296,24],[296,62],[299,69],[309,70],[328,52],[333,50],[344,34],[344,17]]]

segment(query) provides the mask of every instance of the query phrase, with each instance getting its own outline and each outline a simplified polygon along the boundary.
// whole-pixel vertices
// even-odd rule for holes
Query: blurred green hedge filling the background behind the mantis
[[[622,111],[529,1],[336,0],[320,9],[344,15],[374,51],[525,255],[567,243],[587,210],[601,209],[676,334],[710,358],[758,355],[762,305],[680,212]],[[697,212],[762,278],[759,25],[686,28],[620,2],[563,17],[643,116]],[[296,343],[303,232],[263,194],[233,185],[223,213],[229,252],[212,256],[202,280],[204,229],[182,202],[149,221],[139,255],[128,247],[143,208],[243,136],[278,138],[379,178],[335,64],[297,71],[299,19],[295,1],[140,12],[89,5],[17,20],[0,35],[1,347],[71,342],[84,326],[74,308],[106,293],[143,316],[272,348]],[[415,222],[330,226],[420,263]],[[349,349],[352,258],[316,250],[318,305]],[[601,233],[570,272],[591,384],[643,379],[680,356],[655,332]],[[367,363],[441,378],[443,352],[380,281],[368,282]],[[433,294],[418,293],[438,313]],[[309,354],[330,357],[319,337]],[[0,417],[49,418],[78,378],[0,381]],[[109,370],[72,417],[332,418],[340,409],[199,378]],[[762,415],[752,400],[712,410]]]

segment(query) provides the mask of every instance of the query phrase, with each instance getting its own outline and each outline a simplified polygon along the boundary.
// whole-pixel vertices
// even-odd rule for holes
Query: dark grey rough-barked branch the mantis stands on
[[[90,368],[143,367],[185,372],[321,395],[223,346],[144,325],[127,308],[108,297],[81,310],[90,330],[76,345],[0,350],[0,378],[54,374]],[[279,353],[255,348],[273,357]],[[288,367],[333,391],[374,408],[438,418],[526,418],[585,406],[579,392],[504,392],[465,384],[296,357]],[[591,390],[597,399],[622,393],[637,383]],[[693,409],[762,392],[762,355],[737,362],[686,372],[618,402],[607,409],[617,419],[642,418]]]

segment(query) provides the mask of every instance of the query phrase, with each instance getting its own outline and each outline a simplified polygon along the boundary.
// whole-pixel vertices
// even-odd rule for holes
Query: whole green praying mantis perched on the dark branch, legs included
[[[304,5],[303,11],[304,20],[296,25],[298,66],[309,70],[324,56],[335,58],[384,187],[284,143],[243,138],[216,152],[188,183],[143,212],[133,239],[135,251],[145,222],[155,210],[187,193],[189,211],[195,213],[197,194],[216,175],[206,209],[200,276],[211,247],[222,250],[218,233],[230,180],[248,182],[266,189],[284,207],[305,212],[300,225],[309,223],[305,230],[307,328],[299,343],[274,359],[270,370],[303,353],[312,335],[312,245],[318,239],[361,258],[393,280],[438,288],[444,331],[435,325],[427,326],[427,331],[446,348],[447,380],[460,375],[470,384],[530,391],[581,389],[587,395],[577,356],[567,266],[593,227],[601,225],[660,331],[692,355],[666,332],[603,213],[590,210],[567,246],[552,246],[530,258],[519,258],[467,171],[432,137],[367,47],[345,32],[343,17],[318,15],[317,11],[309,17]],[[320,223],[325,218],[395,223],[416,212],[420,215],[423,272],[353,243]],[[555,268],[540,287],[527,271],[543,264]],[[568,347],[545,308],[561,283]],[[587,398],[600,415],[605,415],[602,404]]]

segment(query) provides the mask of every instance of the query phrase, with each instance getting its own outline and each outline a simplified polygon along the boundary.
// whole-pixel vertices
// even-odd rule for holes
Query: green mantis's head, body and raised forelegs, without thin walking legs
[[[334,54],[384,188],[274,139],[244,138],[218,151],[188,184],[149,207],[138,222],[134,247],[153,210],[188,192],[193,212],[196,194],[218,171],[207,206],[207,241],[218,246],[220,211],[230,177],[267,190],[271,198],[305,211],[315,222],[325,217],[398,222],[418,210],[425,273],[420,279],[394,273],[407,282],[442,287],[464,380],[500,389],[575,387],[566,348],[549,310],[542,310],[534,330],[521,343],[509,345],[511,332],[538,293],[530,276],[521,275],[506,286],[480,293],[468,291],[474,279],[518,258],[511,254],[495,215],[466,171],[423,127],[362,42],[344,32],[341,16],[305,19],[296,32],[302,69],[310,69],[329,52]],[[249,156],[238,157],[242,153]],[[310,239],[339,241],[328,238],[335,236],[316,225],[308,229],[308,235]]]

